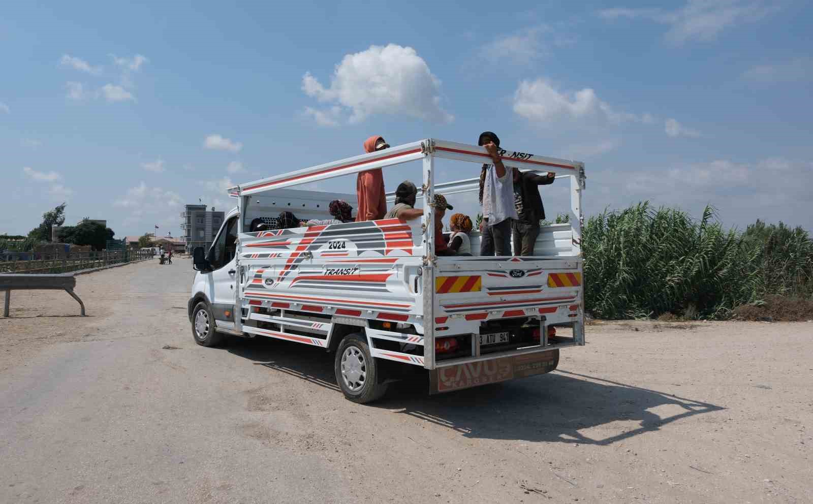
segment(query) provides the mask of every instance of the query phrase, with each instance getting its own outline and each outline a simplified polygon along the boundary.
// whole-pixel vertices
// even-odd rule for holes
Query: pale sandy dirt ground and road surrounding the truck
[[[0,502],[813,502],[811,323],[597,324],[550,375],[359,406],[324,350],[195,345],[192,273],[13,294]]]

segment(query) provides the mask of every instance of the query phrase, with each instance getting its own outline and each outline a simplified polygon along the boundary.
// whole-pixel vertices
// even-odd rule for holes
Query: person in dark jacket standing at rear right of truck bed
[[[516,219],[512,225],[514,255],[533,255],[533,245],[539,236],[539,221],[545,219],[545,206],[538,186],[553,184],[555,174],[536,175],[514,170],[514,206]]]

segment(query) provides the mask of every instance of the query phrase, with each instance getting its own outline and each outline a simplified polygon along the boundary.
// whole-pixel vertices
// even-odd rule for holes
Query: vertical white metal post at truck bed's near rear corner
[[[424,152],[424,367],[435,367],[435,159],[433,141]]]

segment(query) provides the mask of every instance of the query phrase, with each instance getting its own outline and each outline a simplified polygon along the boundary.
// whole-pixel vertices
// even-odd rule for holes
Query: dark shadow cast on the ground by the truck
[[[228,351],[273,371],[341,393],[333,354],[270,338],[239,339]],[[465,437],[610,445],[676,420],[724,408],[670,393],[562,370],[496,385],[428,395],[428,375],[416,368],[370,407],[396,411]],[[654,410],[658,410],[657,412]],[[617,423],[617,424],[616,424]],[[615,424],[615,425],[614,425]],[[593,429],[591,436],[583,433]],[[596,432],[604,432],[597,437]]]

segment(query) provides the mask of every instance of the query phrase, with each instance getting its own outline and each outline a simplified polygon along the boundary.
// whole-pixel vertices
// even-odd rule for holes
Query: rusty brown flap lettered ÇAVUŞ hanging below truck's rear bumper
[[[500,357],[429,371],[429,393],[470,389],[479,385],[542,375],[559,366],[559,349],[538,354]]]

